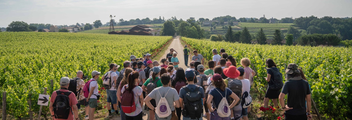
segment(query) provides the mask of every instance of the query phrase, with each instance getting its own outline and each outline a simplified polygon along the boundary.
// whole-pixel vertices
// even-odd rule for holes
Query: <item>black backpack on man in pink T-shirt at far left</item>
[[[54,100],[54,104],[52,107],[54,107],[54,116],[56,119],[68,119],[68,116],[71,111],[71,106],[70,106],[70,99],[69,95],[72,92],[61,92],[59,90],[55,91],[57,96]]]

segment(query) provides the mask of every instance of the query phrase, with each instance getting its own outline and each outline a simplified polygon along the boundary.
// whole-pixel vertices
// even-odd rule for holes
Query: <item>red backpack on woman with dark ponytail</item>
[[[132,113],[136,111],[136,103],[134,102],[134,92],[129,91],[126,86],[127,85],[124,86],[125,91],[122,93],[122,98],[124,100],[121,100],[121,108],[124,113]],[[135,87],[137,86],[134,85],[132,89]]]

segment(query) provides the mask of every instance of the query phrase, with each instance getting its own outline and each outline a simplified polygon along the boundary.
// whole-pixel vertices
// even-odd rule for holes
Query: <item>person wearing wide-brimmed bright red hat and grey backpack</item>
[[[240,71],[238,71],[235,66],[230,66],[228,68],[224,68],[222,72],[228,77],[224,80],[226,87],[231,89],[231,91],[235,93],[238,98],[241,98],[242,82],[237,79],[237,77],[240,76]],[[236,117],[234,118],[234,116]],[[239,120],[240,118],[242,118],[242,106],[241,104],[237,104],[231,111],[231,119]]]

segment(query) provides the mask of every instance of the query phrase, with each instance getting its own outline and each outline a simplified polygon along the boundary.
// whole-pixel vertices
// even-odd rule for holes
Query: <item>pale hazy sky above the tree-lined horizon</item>
[[[0,27],[12,21],[27,24],[75,25],[101,20],[130,20],[176,16],[212,19],[285,18],[300,16],[352,17],[352,0],[0,0]]]

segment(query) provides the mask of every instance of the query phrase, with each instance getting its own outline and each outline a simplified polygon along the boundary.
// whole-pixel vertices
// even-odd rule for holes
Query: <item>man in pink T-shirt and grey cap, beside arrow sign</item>
[[[49,105],[49,110],[51,113],[51,117],[53,120],[79,120],[78,118],[78,109],[77,109],[77,99],[76,99],[76,95],[73,92],[68,91],[68,86],[70,84],[70,79],[68,77],[63,77],[60,79],[60,89],[57,91],[52,92],[51,98],[50,98],[50,105]],[[58,117],[67,117],[67,116],[60,116],[59,112],[62,111],[57,111],[56,113],[54,113],[53,109],[54,107],[59,105],[54,105],[55,99],[58,96],[57,93],[61,94],[60,97],[58,98],[65,98],[65,96],[62,95],[68,95],[68,99],[69,99],[69,106],[70,106],[70,112],[68,114],[68,118],[67,119],[57,119]],[[58,102],[59,104],[59,102]],[[62,104],[62,103],[60,103]],[[74,112],[76,118],[73,116],[72,111]]]

